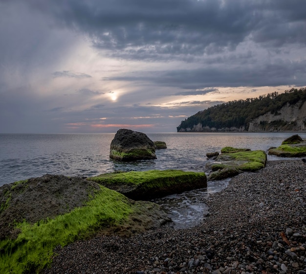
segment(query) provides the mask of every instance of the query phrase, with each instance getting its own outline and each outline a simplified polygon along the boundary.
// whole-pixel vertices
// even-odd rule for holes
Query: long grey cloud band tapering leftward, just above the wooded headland
[[[303,86],[305,85],[305,75],[306,60],[276,60],[274,63],[258,64],[257,66],[250,67],[212,66],[197,69],[143,71],[142,74],[130,73],[110,78],[110,80],[147,81],[160,86],[171,86],[181,89],[202,89],[239,86]],[[178,94],[181,94],[181,92],[178,92]]]

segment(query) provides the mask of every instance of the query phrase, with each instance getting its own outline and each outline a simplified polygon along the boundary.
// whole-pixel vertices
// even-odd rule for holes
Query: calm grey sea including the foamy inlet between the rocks
[[[156,150],[156,160],[119,162],[109,159],[115,133],[101,134],[0,134],[0,186],[44,174],[89,177],[113,171],[180,169],[205,172],[206,153],[222,147],[268,151],[297,133],[148,133],[153,141],[166,142],[167,149]],[[298,133],[306,139],[306,133]],[[268,155],[268,160],[284,160]],[[175,228],[203,221],[205,197],[221,191],[229,180],[208,182],[208,187],[154,200],[174,220]]]

